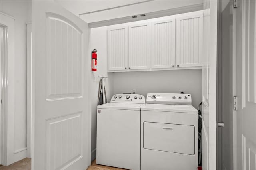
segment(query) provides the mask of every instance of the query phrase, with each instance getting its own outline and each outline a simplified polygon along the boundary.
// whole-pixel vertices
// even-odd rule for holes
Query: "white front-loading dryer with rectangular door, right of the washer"
[[[149,93],[141,107],[141,170],[196,170],[198,111],[190,94]]]

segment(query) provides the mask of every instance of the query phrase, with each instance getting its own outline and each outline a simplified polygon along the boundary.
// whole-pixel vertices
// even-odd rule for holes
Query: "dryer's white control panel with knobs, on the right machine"
[[[148,93],[147,103],[165,105],[191,105],[190,94],[182,93]]]

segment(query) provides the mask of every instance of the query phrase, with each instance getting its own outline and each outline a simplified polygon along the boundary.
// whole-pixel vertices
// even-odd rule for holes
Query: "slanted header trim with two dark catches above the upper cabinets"
[[[194,12],[194,11],[202,10],[202,8],[203,8],[203,4],[196,4],[196,5],[179,7],[179,8],[172,8],[172,9],[168,9],[168,10],[150,12],[150,13],[146,13],[146,16],[143,16],[143,17],[141,17],[140,14],[138,14],[137,18],[132,18],[132,16],[127,16],[127,17],[115,18],[115,19],[111,19],[111,20],[90,22],[90,23],[88,23],[88,25],[90,28],[110,26],[110,25],[122,24],[122,23],[126,23],[126,22],[134,22],[134,21],[140,21],[140,20],[147,20],[147,19],[151,19],[151,18],[158,18],[158,17],[162,17],[162,16],[170,16],[170,15],[175,15],[175,14]]]

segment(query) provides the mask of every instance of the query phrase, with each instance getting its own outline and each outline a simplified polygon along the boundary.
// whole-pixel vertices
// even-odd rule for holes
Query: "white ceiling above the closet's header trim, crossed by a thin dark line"
[[[202,0],[56,0],[56,2],[88,23],[202,4]],[[126,6],[128,4],[132,5]],[[113,7],[119,8],[104,10]],[[104,11],[94,12],[98,10]],[[87,12],[92,13],[79,15]]]

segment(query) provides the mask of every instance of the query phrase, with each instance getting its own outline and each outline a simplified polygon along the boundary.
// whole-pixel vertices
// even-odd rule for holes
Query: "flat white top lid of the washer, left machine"
[[[106,103],[103,105],[98,105],[98,109],[122,109],[122,110],[138,110],[144,104],[141,103]]]

